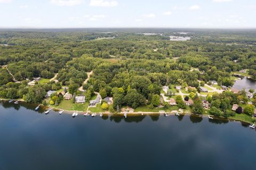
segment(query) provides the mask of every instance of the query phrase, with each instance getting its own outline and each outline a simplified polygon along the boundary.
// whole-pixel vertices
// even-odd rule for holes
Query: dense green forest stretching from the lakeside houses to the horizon
[[[170,36],[191,40],[171,41]],[[83,86],[90,93],[100,92],[102,98],[113,97],[115,110],[122,106],[153,108],[160,104],[163,86],[198,89],[215,80],[219,86],[231,87],[233,74],[241,70],[255,80],[256,30],[0,30],[0,64],[1,98],[41,103],[49,90],[67,87],[73,94]],[[83,84],[90,71],[92,77]],[[54,75],[58,81],[28,86],[37,77]],[[195,106],[201,106],[202,98],[192,92]],[[227,115],[231,105],[248,102],[245,96],[243,91],[235,96],[223,92],[207,95],[207,101],[213,103],[211,112]],[[175,98],[185,108],[179,96]],[[195,106],[193,111],[202,113]]]

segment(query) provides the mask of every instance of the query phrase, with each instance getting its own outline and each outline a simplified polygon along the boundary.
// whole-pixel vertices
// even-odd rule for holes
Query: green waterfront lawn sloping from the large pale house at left
[[[89,103],[77,104],[72,103],[71,100],[62,100],[59,106],[54,106],[55,108],[64,109],[67,111],[83,111],[87,110]]]

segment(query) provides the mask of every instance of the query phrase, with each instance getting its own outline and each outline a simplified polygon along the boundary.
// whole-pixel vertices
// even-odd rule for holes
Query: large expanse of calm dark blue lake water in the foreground
[[[0,101],[0,169],[254,169],[256,131],[195,116],[71,118]]]

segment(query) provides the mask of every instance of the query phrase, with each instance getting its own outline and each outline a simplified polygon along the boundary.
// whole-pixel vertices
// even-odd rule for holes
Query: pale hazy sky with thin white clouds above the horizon
[[[0,28],[256,28],[256,0],[0,0]]]

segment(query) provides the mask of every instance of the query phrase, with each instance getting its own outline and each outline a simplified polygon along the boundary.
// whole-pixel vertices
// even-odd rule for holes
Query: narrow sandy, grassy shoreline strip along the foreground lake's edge
[[[0,98],[0,100],[2,101],[9,101],[9,99],[2,99],[2,98]],[[17,100],[14,100],[14,101],[18,101],[19,99],[17,99]],[[24,100],[19,100],[19,101],[21,101],[21,102],[24,102],[25,103],[25,101]],[[42,104],[41,104],[42,105]],[[64,109],[61,109],[61,108],[55,108],[55,107],[51,107],[51,106],[44,106],[44,105],[42,105],[44,108],[45,108],[45,110],[47,110],[47,109],[49,109],[49,108],[52,108],[53,109],[53,111],[55,111],[55,112],[59,112],[59,111],[62,111],[62,110],[64,110]],[[67,114],[73,114],[74,112],[77,112],[77,113],[80,113],[80,114],[83,114],[83,113],[86,113],[86,111],[68,111],[68,110],[64,110],[65,111],[65,113],[67,113]],[[186,112],[186,111],[185,111]],[[211,117],[213,117],[213,118],[215,118],[215,119],[221,119],[221,120],[228,120],[228,121],[237,121],[237,122],[241,122],[241,123],[248,123],[248,124],[251,124],[251,123],[253,123],[253,122],[249,122],[249,121],[242,121],[242,120],[239,120],[239,119],[237,119],[237,118],[233,118],[233,117],[228,117],[228,118],[226,118],[226,117],[219,117],[219,116],[213,116],[213,115],[209,115],[209,114],[202,114],[202,115],[199,115],[199,114],[193,114],[193,113],[190,113],[190,112],[187,112],[187,113],[183,113],[183,114],[180,114],[180,115],[183,115],[183,116],[185,116],[185,115],[195,115],[195,116],[202,116],[202,117],[209,117],[209,116],[211,116]],[[91,113],[97,113],[97,114],[103,114],[103,115],[117,115],[117,116],[121,116],[121,115],[124,115],[124,113],[109,113],[109,112],[106,112],[106,113],[102,113],[102,112],[91,112]],[[167,115],[175,115],[175,113],[171,113],[171,112],[165,112]],[[159,115],[163,115],[164,116],[164,114],[162,114],[162,113],[159,113],[159,112],[133,112],[133,113],[127,113],[127,117],[129,117],[129,116],[131,116],[131,115],[133,115],[133,116],[144,116],[144,115],[154,115],[154,114],[159,114]],[[91,114],[90,114],[91,115]],[[255,120],[255,122],[256,122],[256,120]]]

